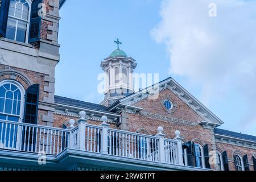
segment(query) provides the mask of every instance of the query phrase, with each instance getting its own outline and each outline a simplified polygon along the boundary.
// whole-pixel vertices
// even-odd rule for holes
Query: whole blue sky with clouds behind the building
[[[60,11],[56,94],[102,101],[100,62],[119,38],[137,60],[135,72],[175,78],[225,122],[221,128],[256,135],[255,7],[240,0],[68,0]]]

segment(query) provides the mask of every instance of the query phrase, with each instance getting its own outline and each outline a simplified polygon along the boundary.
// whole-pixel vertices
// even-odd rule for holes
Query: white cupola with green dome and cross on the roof
[[[134,93],[133,71],[137,66],[136,60],[128,57],[125,51],[119,48],[122,44],[115,40],[117,49],[101,62],[101,68],[106,74],[105,98],[101,105],[110,106],[115,101]]]

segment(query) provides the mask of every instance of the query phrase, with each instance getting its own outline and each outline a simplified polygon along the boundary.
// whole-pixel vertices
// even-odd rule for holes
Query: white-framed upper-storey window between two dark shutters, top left
[[[19,42],[28,41],[30,3],[26,0],[10,0],[6,38]]]

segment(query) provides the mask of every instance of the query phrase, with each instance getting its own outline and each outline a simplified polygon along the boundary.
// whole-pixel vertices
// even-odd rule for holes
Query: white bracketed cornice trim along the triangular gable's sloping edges
[[[178,84],[172,77],[167,78],[159,82],[158,84],[149,86],[139,92],[131,94],[121,100],[115,102],[108,108],[110,111],[127,111],[130,113],[136,113],[142,111],[143,107],[137,106],[138,102],[143,100],[154,100],[153,97],[161,94],[164,90],[170,90],[170,92],[179,98],[185,105],[189,107],[193,112],[199,115],[203,125],[213,125],[214,127],[222,125],[221,121],[216,115],[214,115],[207,107],[201,104],[195,97],[193,97],[187,90],[185,90],[180,84]],[[152,97],[152,98],[151,98]],[[148,105],[152,104],[152,101]]]

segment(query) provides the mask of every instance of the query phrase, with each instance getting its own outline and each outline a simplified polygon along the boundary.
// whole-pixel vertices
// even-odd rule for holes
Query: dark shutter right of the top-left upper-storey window
[[[40,39],[40,26],[41,17],[38,15],[39,10],[42,8],[39,6],[43,0],[34,0],[31,5],[31,18],[30,18],[30,36],[28,43],[36,42]]]

